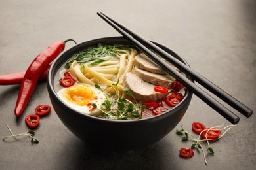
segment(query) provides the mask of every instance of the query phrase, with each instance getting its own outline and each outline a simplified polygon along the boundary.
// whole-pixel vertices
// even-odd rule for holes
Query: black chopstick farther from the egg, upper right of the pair
[[[100,14],[102,14],[102,13],[100,12]],[[179,59],[174,58],[171,54],[165,52],[165,50],[156,46],[154,43],[144,39],[140,35],[137,35],[137,33],[131,31],[131,29],[128,29],[127,27],[124,27],[123,25],[117,23],[116,21],[112,20],[111,18],[109,18],[105,14],[102,14],[102,15],[105,16],[106,18],[108,18],[108,20],[110,20],[111,22],[116,24],[118,27],[120,27],[121,29],[123,29],[124,31],[129,33],[129,35],[131,35],[137,41],[140,41],[140,43],[144,44],[144,46],[146,46],[146,48],[150,48],[152,51],[156,52],[161,57],[163,57],[164,59],[166,59],[167,61],[169,61],[173,65],[175,65],[175,67],[182,70],[183,73],[186,73],[187,75],[190,75],[196,82],[198,82],[204,88],[209,90],[209,92],[212,92],[215,95],[217,95],[217,97],[221,98],[228,105],[230,105],[234,109],[238,110],[240,113],[242,113],[247,118],[249,118],[253,114],[253,110],[249,109],[244,104],[242,104],[240,101],[238,101],[237,99],[232,97],[230,94],[224,92],[224,90],[222,90],[221,88],[219,88],[218,86],[213,84],[213,82],[210,82],[205,77],[203,77],[202,75],[200,75],[199,73],[197,73],[196,71],[194,71],[193,69],[191,69],[190,67],[185,65],[184,63],[182,63],[181,61],[179,61]],[[177,54],[173,54],[173,55],[178,56]]]

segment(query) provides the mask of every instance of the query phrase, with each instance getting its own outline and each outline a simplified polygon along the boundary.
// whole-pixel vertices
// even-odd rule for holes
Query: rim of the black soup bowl
[[[60,99],[60,97],[57,95],[57,92],[56,92],[56,90],[54,90],[54,86],[53,86],[54,76],[56,76],[58,69],[60,69],[60,66],[63,65],[68,60],[68,58],[66,58],[66,59],[62,59],[62,58],[64,58],[66,55],[68,55],[72,50],[74,50],[76,48],[80,48],[81,46],[85,46],[85,48],[87,48],[87,47],[89,47],[87,44],[94,43],[94,42],[100,42],[100,41],[106,41],[106,40],[110,40],[110,41],[116,40],[116,41],[123,41],[123,42],[127,41],[128,44],[129,43],[131,44],[131,42],[129,42],[127,39],[125,39],[125,37],[102,37],[102,38],[97,38],[97,39],[91,39],[89,41],[84,41],[79,44],[76,44],[75,46],[72,46],[71,48],[66,50],[64,53],[60,54],[60,56],[58,56],[56,59],[54,59],[53,63],[51,64],[51,67],[49,68],[49,71],[47,74],[47,88],[48,88],[48,91],[52,92],[54,99],[57,99],[60,103],[62,103],[62,105],[64,107],[66,107],[66,109],[72,110],[73,114],[79,114],[79,116],[85,116],[86,118],[89,118],[90,120],[93,120],[93,121],[114,122],[116,124],[119,124],[119,123],[131,124],[131,123],[135,123],[135,122],[148,122],[148,121],[150,122],[157,118],[162,118],[162,117],[166,116],[166,114],[173,114],[175,112],[175,110],[178,110],[179,107],[182,106],[182,103],[190,101],[190,99],[192,97],[192,92],[190,92],[190,90],[186,89],[186,94],[184,95],[184,99],[182,99],[182,101],[176,107],[173,107],[171,110],[163,112],[162,114],[158,114],[158,115],[152,116],[150,118],[142,118],[142,119],[138,119],[138,120],[108,120],[108,119],[104,119],[104,118],[98,118],[96,116],[91,116],[91,115],[87,115],[87,114],[78,112],[78,111],[72,109],[72,107],[66,105],[66,103],[64,103],[62,101],[62,99]],[[123,44],[123,42],[121,42],[120,44]],[[153,42],[153,41],[151,41],[151,42]],[[184,58],[182,58],[181,56],[179,56],[178,54],[173,52],[173,50],[171,50],[170,48],[167,48],[166,46],[163,46],[162,44],[158,44],[158,42],[153,42],[153,43],[158,46],[161,46],[161,48],[165,48],[165,49],[169,50],[169,52],[171,52],[172,56],[175,56],[175,58],[176,57],[179,58],[179,60],[181,60],[183,63],[188,65],[188,67],[190,67],[190,65],[187,63],[187,61]],[[62,62],[60,62],[60,61],[62,61]],[[54,67],[57,67],[57,66],[58,66],[58,68],[56,68],[55,69],[56,71],[54,72],[53,69],[54,69]],[[186,77],[188,77],[192,82],[194,82],[194,80],[190,76],[186,75]]]

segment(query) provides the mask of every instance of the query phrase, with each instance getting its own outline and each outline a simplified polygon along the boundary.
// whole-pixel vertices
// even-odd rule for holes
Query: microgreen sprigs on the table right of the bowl
[[[224,125],[224,124],[223,124]],[[215,126],[215,127],[211,127],[209,129],[214,129],[214,128],[220,128],[220,127],[223,127],[223,125],[221,126]],[[222,129],[218,129],[218,130],[222,130],[224,131],[224,133],[222,133],[221,136],[219,136],[217,139],[200,139],[200,136],[202,134],[202,132],[198,135],[198,138],[194,137],[194,135],[192,135],[191,133],[189,133],[188,131],[185,131],[183,129],[183,125],[181,125],[181,129],[177,130],[176,133],[179,134],[179,135],[182,135],[181,137],[181,140],[182,141],[192,141],[194,142],[192,145],[191,145],[191,148],[196,148],[198,147],[200,150],[202,150],[203,152],[203,158],[204,158],[204,162],[205,162],[205,165],[207,165],[207,160],[206,160],[206,156],[205,156],[205,150],[203,150],[203,147],[202,147],[202,142],[203,141],[206,141],[207,142],[207,149],[206,149],[206,152],[209,152],[209,154],[213,154],[214,155],[214,150],[213,148],[210,146],[209,144],[209,141],[215,141],[215,140],[218,140],[218,139],[221,139],[221,137],[223,137],[223,135],[229,130],[231,129],[231,127],[234,126],[234,125],[229,125],[229,126],[226,126]],[[207,129],[207,130],[209,130]],[[204,130],[206,131],[206,130]]]

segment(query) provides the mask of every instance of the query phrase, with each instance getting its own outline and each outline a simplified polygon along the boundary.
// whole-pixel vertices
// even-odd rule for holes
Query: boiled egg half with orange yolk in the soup
[[[100,108],[106,99],[100,90],[85,84],[74,84],[69,88],[62,88],[57,94],[72,109],[91,116],[99,116],[101,114],[101,111],[95,109],[92,104],[94,103]]]

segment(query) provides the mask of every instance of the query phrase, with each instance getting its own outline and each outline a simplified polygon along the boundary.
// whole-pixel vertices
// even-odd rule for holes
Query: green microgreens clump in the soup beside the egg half
[[[112,84],[116,93],[110,93],[110,98],[106,99],[100,108],[98,108],[95,103],[93,103],[92,106],[103,112],[101,115],[102,118],[108,118],[111,120],[133,120],[142,118],[141,111],[144,110],[146,106],[140,106],[132,93],[128,90],[125,91],[125,94],[133,97],[135,102],[120,97],[118,90],[115,88],[117,86],[118,82],[116,84]],[[95,87],[101,90],[98,84],[95,84]]]

